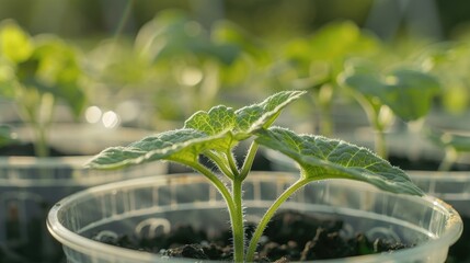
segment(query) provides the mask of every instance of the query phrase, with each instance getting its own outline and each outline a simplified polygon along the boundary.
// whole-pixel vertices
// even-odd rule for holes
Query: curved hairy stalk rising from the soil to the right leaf
[[[271,205],[271,207],[266,210],[264,216],[261,218],[260,224],[256,226],[256,230],[253,233],[253,237],[250,240],[250,245],[247,250],[247,262],[253,262],[254,260],[254,252],[256,251],[257,242],[263,235],[264,229],[266,228],[267,224],[270,222],[271,218],[274,216],[276,210],[279,208],[279,206],[288,199],[296,191],[308,184],[311,180],[300,179],[297,182],[295,182],[293,185],[290,185],[287,190],[280,194],[277,199]]]

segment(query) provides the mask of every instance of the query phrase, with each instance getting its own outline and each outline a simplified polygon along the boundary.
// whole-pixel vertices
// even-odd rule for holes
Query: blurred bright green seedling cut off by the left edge
[[[0,24],[0,96],[12,100],[34,132],[35,153],[48,156],[47,137],[58,101],[78,117],[85,103],[77,50],[54,35],[31,37],[14,21]]]

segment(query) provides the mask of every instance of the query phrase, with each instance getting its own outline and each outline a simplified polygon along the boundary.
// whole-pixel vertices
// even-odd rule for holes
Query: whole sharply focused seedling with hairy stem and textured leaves
[[[185,164],[205,175],[227,204],[233,235],[233,260],[252,262],[257,242],[277,208],[306,184],[323,179],[364,181],[385,191],[422,195],[408,175],[371,151],[342,140],[316,135],[298,135],[283,127],[272,127],[282,110],[306,92],[283,91],[261,103],[239,110],[219,105],[191,116],[181,129],[144,138],[127,147],[103,150],[87,164],[93,169],[118,169],[156,160]],[[244,161],[237,163],[233,149],[251,140]],[[260,146],[277,150],[294,159],[300,168],[299,179],[285,190],[259,222],[245,247],[243,181],[249,176]],[[199,162],[210,159],[218,169]],[[222,176],[231,184],[226,185]]]

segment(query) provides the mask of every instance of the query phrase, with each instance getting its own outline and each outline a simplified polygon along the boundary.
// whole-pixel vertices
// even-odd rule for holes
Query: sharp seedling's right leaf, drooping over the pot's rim
[[[257,135],[260,145],[297,161],[306,180],[352,179],[393,193],[423,195],[402,170],[366,148],[279,127],[260,129]]]

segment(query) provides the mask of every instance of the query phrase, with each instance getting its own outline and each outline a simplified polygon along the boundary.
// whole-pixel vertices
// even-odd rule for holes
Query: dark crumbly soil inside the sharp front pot
[[[390,252],[410,248],[412,244],[376,239],[369,240],[363,233],[344,237],[341,220],[318,219],[316,217],[284,211],[276,215],[265,231],[259,247],[256,262],[289,262],[320,259],[339,259]],[[248,225],[248,238],[253,226]],[[175,226],[168,235],[152,239],[134,236],[118,238],[98,235],[93,239],[104,243],[142,250],[170,258],[191,258],[198,260],[232,261],[231,233],[222,231],[219,237],[208,240],[207,233],[191,226]]]

